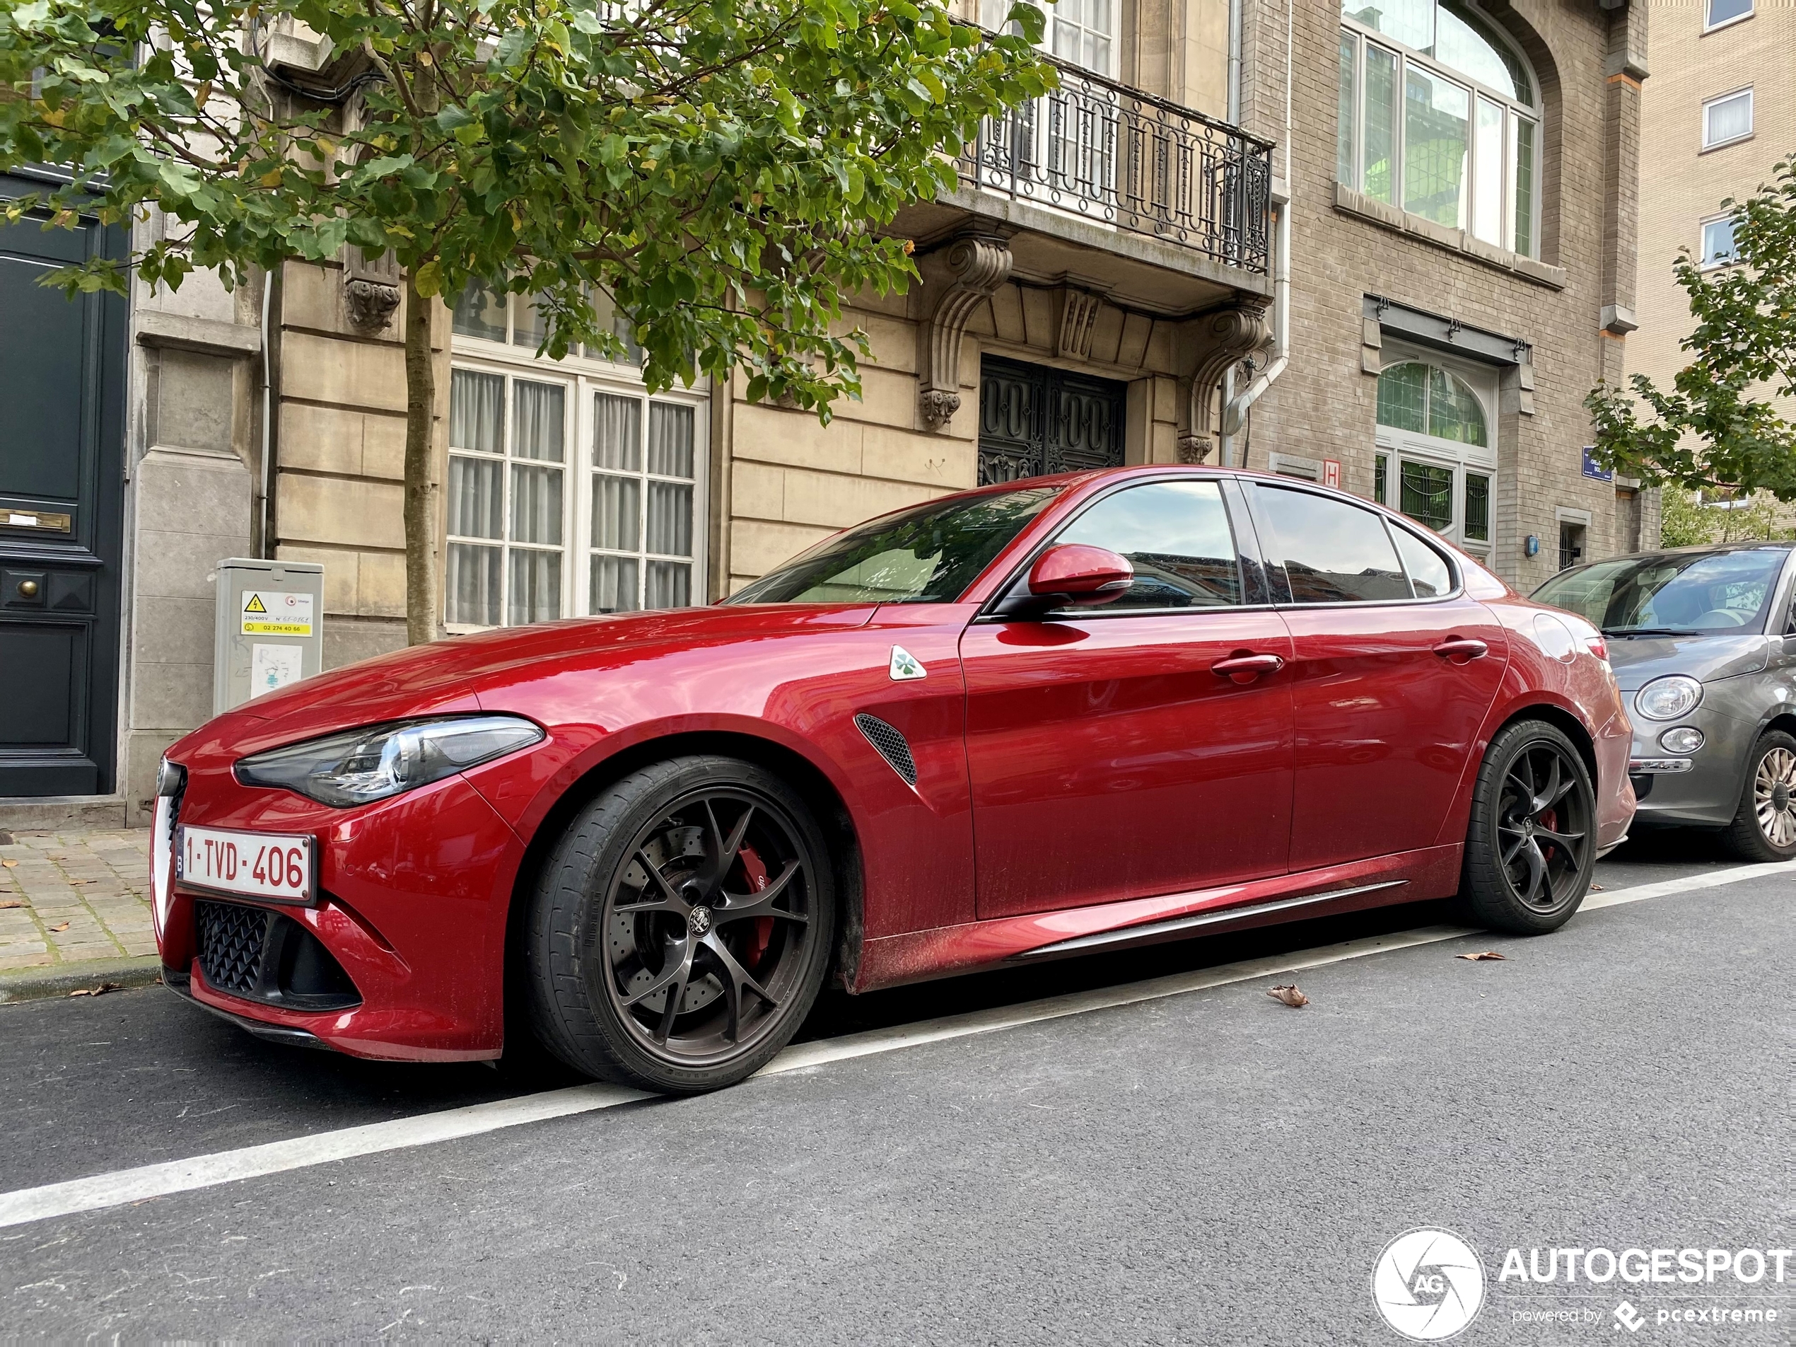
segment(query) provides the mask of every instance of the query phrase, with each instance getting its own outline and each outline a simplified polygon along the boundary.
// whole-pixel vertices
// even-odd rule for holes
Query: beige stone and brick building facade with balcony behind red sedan
[[[961,13],[1002,22],[991,5]],[[921,284],[850,304],[873,359],[830,426],[749,404],[742,379],[650,397],[627,361],[539,361],[519,296],[440,307],[444,625],[711,602],[873,514],[1096,463],[1383,494],[1523,589],[1561,539],[1651,537],[1638,497],[1580,472],[1580,399],[1634,323],[1643,11],[1388,9],[1061,0],[1061,92],[894,223]],[[268,52],[291,81],[330,74],[304,32]],[[1367,70],[1388,117],[1369,119]],[[395,282],[354,257],[136,300],[102,787],[133,817],[162,747],[210,713],[221,557],[323,564],[327,666],[404,641]]]

